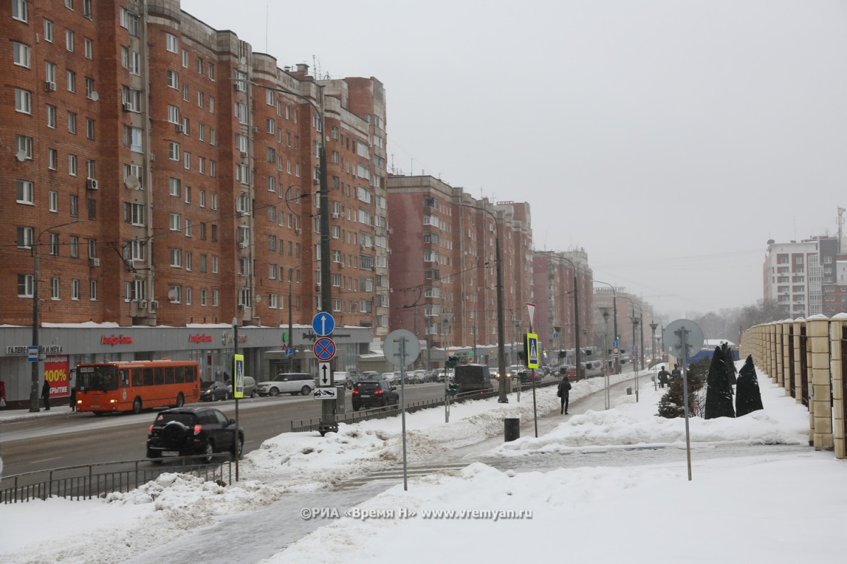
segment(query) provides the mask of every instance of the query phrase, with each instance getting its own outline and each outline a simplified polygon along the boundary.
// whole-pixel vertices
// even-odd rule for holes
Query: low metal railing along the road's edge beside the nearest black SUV
[[[22,503],[33,499],[64,497],[80,500],[104,496],[114,491],[130,491],[160,474],[191,474],[207,480],[232,481],[229,454],[213,455],[212,463],[199,463],[202,457],[166,458],[162,463],[150,459],[125,462],[80,464],[65,468],[38,470],[4,476],[0,482],[0,503]],[[173,464],[171,462],[177,462]],[[10,484],[11,483],[11,484]]]

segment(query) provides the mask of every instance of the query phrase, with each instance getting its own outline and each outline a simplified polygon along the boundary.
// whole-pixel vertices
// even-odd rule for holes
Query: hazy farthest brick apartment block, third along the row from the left
[[[593,344],[594,275],[584,249],[536,251],[533,255],[535,312],[534,329],[551,351],[576,347],[579,307],[579,346]],[[574,287],[576,280],[576,287]]]

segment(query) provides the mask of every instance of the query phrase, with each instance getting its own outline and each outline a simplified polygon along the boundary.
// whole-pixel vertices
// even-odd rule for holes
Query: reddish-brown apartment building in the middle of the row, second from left
[[[495,218],[501,226],[504,330],[507,343],[516,343],[518,320],[525,320],[532,298],[529,204],[492,205],[422,175],[390,176],[388,205],[390,326],[414,332],[431,348],[475,348],[476,359],[496,364]],[[515,350],[507,347],[510,359]],[[427,360],[443,354],[430,351]]]

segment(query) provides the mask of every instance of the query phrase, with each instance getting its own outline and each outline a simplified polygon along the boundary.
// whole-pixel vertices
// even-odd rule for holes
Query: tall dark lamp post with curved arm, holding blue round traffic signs
[[[318,183],[320,186],[318,202],[320,204],[320,309],[331,315],[332,311],[332,275],[329,272],[331,265],[329,257],[329,185],[327,183],[327,164],[326,164],[326,141],[324,127],[324,112],[321,112],[318,105],[307,96],[297,94],[291,90],[282,88],[273,88],[257,84],[252,80],[234,79],[235,82],[242,82],[248,85],[257,86],[264,90],[273,90],[281,92],[289,96],[295,96],[312,106],[318,114],[318,123],[320,128],[320,146],[318,147]],[[329,386],[335,386],[335,374],[329,372]],[[335,421],[335,400],[324,399],[321,402],[321,422],[318,425],[318,430],[321,435],[327,431],[338,431],[338,423]]]

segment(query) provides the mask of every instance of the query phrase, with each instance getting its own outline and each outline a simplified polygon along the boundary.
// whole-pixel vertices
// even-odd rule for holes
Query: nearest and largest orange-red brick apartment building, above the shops
[[[0,22],[0,324],[31,326],[36,289],[47,326],[206,329],[235,318],[274,331],[254,337],[261,347],[241,345],[248,372],[272,370],[282,328],[301,326],[294,344],[308,345],[304,327],[320,307],[324,142],[332,309],[339,326],[368,328],[341,339],[337,368],[387,332],[379,80],[280,68],[179,0],[9,0]],[[73,344],[56,347],[70,365],[163,353],[99,353],[101,333],[77,326]],[[16,347],[0,355],[12,399],[24,396],[25,358]],[[227,362],[221,348],[174,343],[169,355],[202,359],[208,376]],[[301,353],[297,366],[307,362]]]

